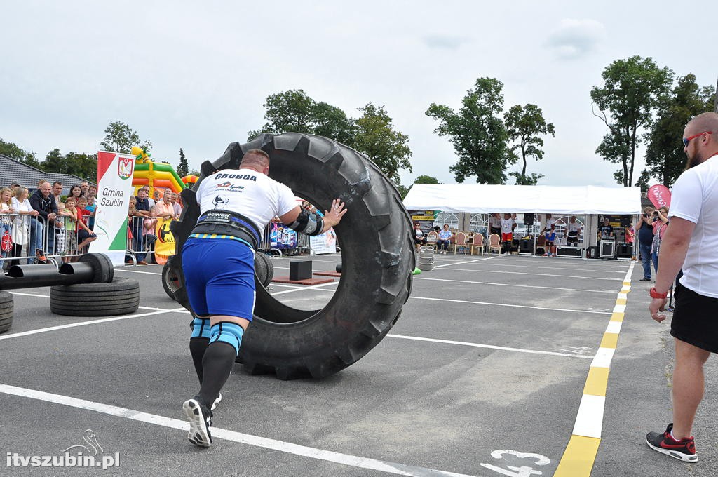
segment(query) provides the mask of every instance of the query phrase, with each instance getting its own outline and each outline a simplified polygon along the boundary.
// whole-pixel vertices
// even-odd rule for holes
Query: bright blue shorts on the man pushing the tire
[[[187,238],[182,271],[197,316],[228,315],[252,320],[254,251],[230,238]]]

